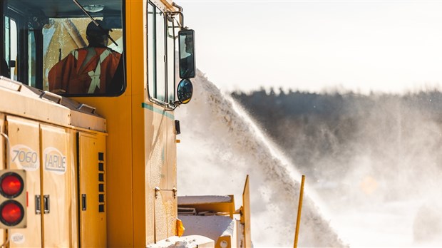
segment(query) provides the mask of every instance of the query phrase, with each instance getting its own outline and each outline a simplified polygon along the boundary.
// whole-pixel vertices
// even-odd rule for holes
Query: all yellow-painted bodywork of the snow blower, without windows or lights
[[[152,2],[178,11],[172,1]],[[124,9],[123,94],[68,99],[0,78],[0,131],[9,138],[0,153],[9,149],[10,168],[26,170],[28,195],[27,227],[7,231],[9,247],[146,247],[182,234],[175,116],[149,100],[148,1],[128,0]],[[83,46],[84,37],[68,35],[63,55]],[[47,56],[50,68],[56,54]],[[0,163],[8,164],[4,156]],[[199,207],[237,214],[232,196]],[[249,237],[248,247],[250,225],[238,236]],[[236,242],[226,236],[217,245],[224,239]]]

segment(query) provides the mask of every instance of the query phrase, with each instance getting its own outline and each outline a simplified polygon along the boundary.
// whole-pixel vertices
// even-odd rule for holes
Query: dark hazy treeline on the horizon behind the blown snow
[[[379,157],[379,164],[395,164],[395,157],[416,145],[442,164],[439,91],[362,95],[261,89],[231,95],[307,171],[330,164],[344,165],[340,172],[347,170],[356,154]]]

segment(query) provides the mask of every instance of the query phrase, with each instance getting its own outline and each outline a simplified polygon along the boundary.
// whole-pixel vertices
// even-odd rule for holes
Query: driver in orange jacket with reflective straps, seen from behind
[[[56,63],[48,74],[49,91],[53,93],[106,93],[115,74],[121,54],[108,48],[109,30],[103,21],[88,24],[89,46],[78,48]]]

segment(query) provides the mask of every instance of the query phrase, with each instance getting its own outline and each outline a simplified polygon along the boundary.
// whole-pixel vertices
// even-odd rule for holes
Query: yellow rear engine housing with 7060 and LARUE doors
[[[11,100],[11,92],[3,88],[4,83],[0,81],[0,97],[7,102]],[[98,212],[99,185],[106,183],[106,160],[104,157],[99,160],[99,153],[106,151],[106,134],[75,128],[70,125],[69,117],[79,115],[83,124],[89,122],[101,129],[105,120],[96,115],[69,113],[65,106],[41,100],[24,86],[14,94],[21,95],[22,102],[33,102],[37,111],[29,108],[17,116],[11,113],[14,108],[6,110],[7,105],[0,103],[1,132],[9,138],[6,145],[9,167],[26,170],[28,197],[26,228],[9,229],[9,246],[106,247],[106,212]],[[58,111],[38,113],[38,108],[58,108]],[[65,111],[66,122],[44,122]],[[103,176],[99,175],[100,163],[105,164]],[[106,192],[106,187],[103,191]],[[81,200],[77,196],[83,193],[90,197],[87,212],[77,208]],[[103,206],[105,200],[101,202]]]

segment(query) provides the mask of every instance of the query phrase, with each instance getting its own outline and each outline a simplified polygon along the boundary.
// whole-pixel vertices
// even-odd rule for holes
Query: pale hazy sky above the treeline
[[[222,91],[442,86],[442,1],[177,0]]]

